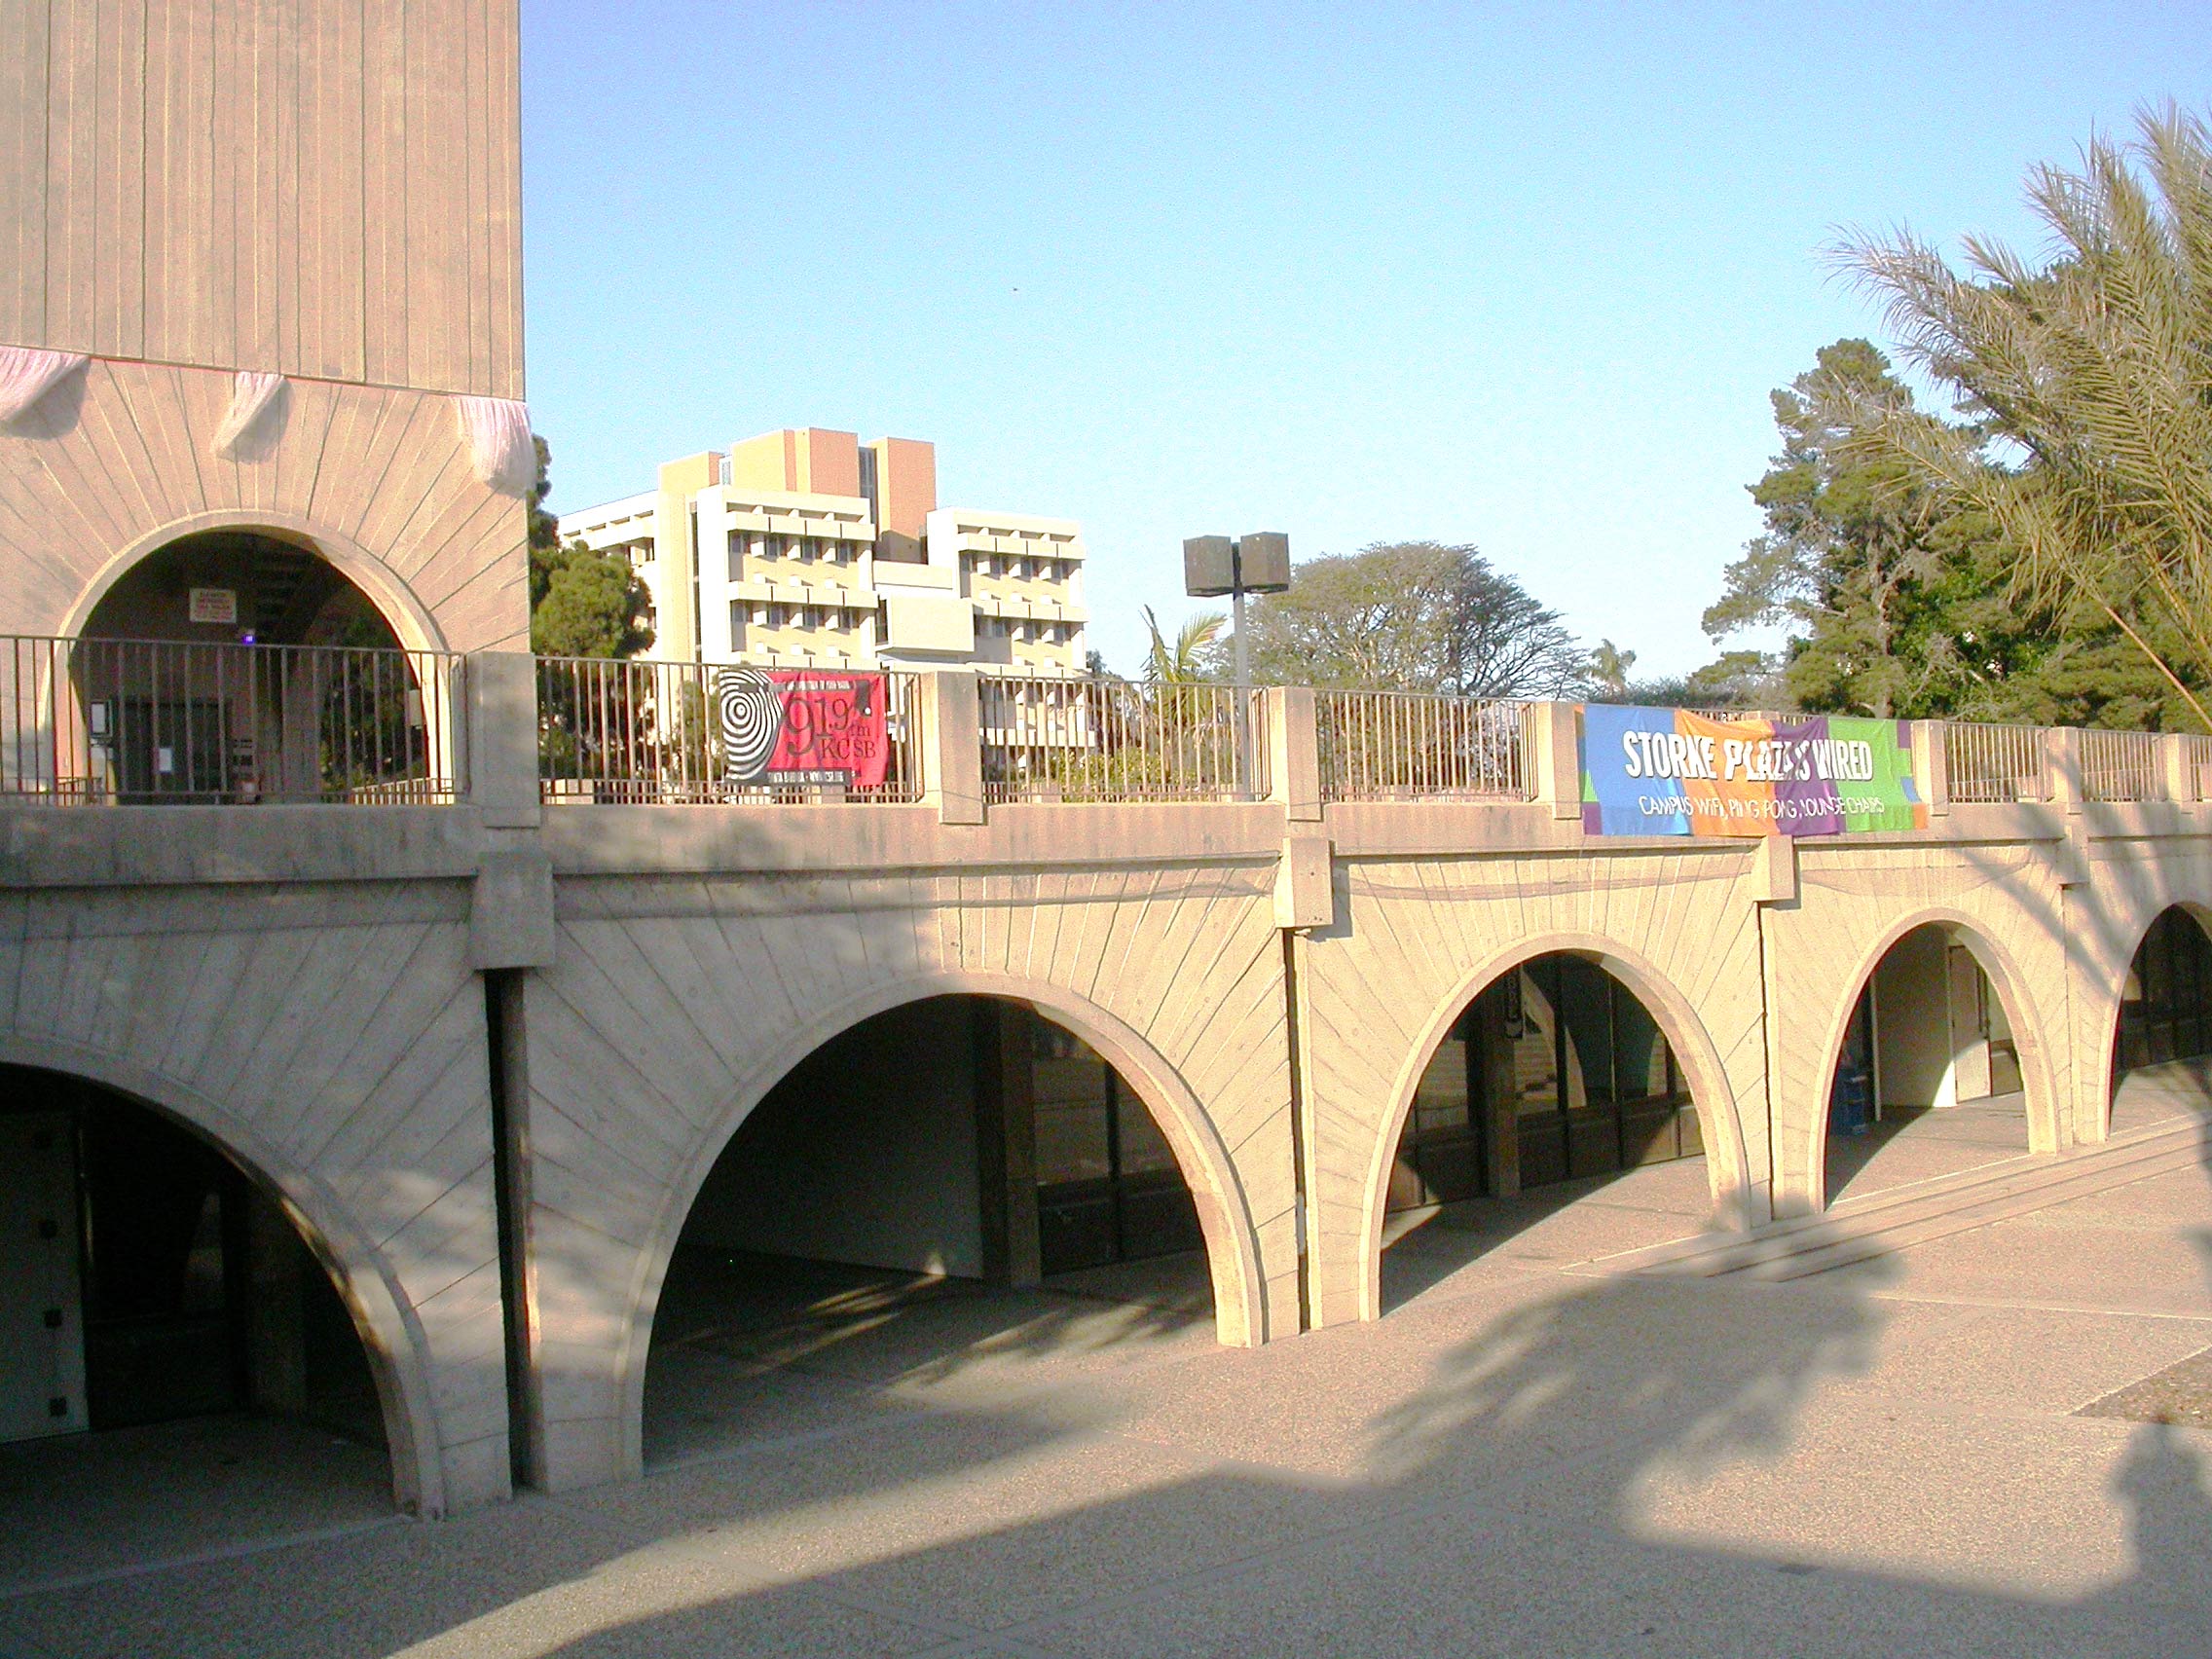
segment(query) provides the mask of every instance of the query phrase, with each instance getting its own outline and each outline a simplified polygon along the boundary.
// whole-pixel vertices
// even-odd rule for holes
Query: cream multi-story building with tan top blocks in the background
[[[933,445],[807,427],[670,460],[560,533],[630,560],[661,659],[1079,677],[1082,529],[936,495]]]

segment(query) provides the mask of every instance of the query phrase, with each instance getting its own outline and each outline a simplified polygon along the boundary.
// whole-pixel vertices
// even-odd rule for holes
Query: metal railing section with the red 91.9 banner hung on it
[[[540,657],[540,796],[595,805],[922,799],[916,675],[823,666],[787,670],[796,679],[779,679],[783,672]],[[803,684],[810,679],[860,681],[860,695],[816,692]],[[880,688],[880,708],[865,706],[872,688]],[[818,697],[832,701],[825,706]],[[818,730],[825,712],[838,726],[834,739]],[[796,743],[807,765],[776,765],[792,759],[787,741]],[[874,750],[878,741],[883,781],[872,783],[874,763],[863,750]]]

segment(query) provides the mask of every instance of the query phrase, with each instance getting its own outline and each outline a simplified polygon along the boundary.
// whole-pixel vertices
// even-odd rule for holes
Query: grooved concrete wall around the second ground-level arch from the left
[[[1199,1203],[1221,1336],[1298,1327],[1283,956],[1265,865],[564,880],[529,987],[555,1486],[639,1467],[653,1310],[745,1113],[858,1020],[1035,1002],[1137,1088]]]

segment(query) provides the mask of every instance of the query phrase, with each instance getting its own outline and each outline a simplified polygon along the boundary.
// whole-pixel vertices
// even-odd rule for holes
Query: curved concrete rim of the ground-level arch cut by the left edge
[[[336,1194],[217,1102],[135,1060],[53,1037],[0,1031],[0,1064],[64,1073],[128,1095],[210,1141],[279,1201],[330,1274],[369,1356],[392,1460],[394,1504],[418,1515],[442,1515],[445,1471],[438,1460],[429,1347],[383,1252],[352,1221]]]

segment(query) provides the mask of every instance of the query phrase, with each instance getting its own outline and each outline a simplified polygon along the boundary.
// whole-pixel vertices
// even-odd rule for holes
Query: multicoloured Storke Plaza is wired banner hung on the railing
[[[1840,836],[1927,821],[1909,721],[1582,710],[1582,827],[1597,836]]]

